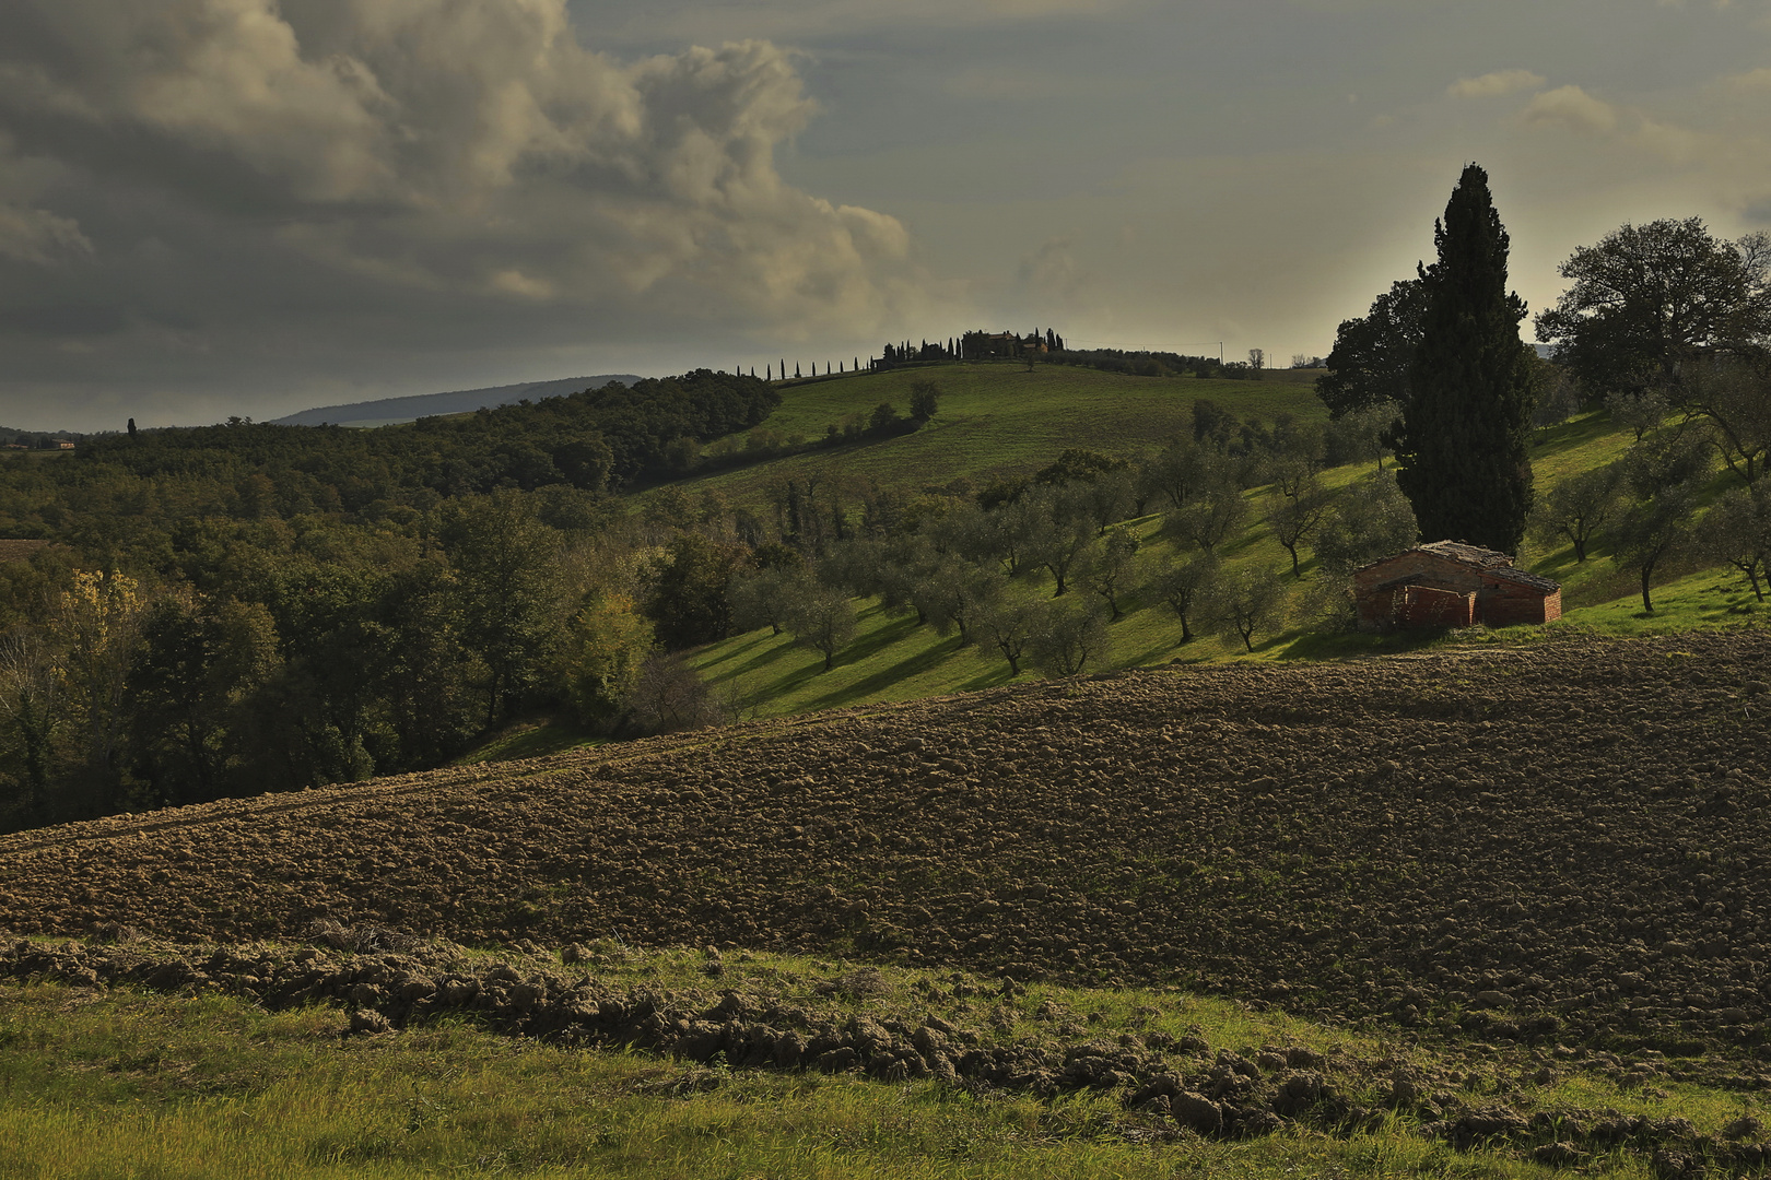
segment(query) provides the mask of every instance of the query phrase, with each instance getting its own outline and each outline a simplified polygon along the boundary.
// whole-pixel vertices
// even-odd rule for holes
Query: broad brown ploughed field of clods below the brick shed
[[[317,918],[1759,1044],[1771,637],[1128,672],[0,839],[0,927]]]

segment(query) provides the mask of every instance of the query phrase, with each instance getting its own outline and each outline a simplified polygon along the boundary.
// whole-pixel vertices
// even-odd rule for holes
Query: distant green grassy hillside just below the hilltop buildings
[[[737,502],[760,497],[783,474],[841,471],[854,478],[914,488],[958,476],[974,481],[994,474],[1036,471],[1064,448],[1107,455],[1148,455],[1176,432],[1192,430],[1197,398],[1236,418],[1272,421],[1279,414],[1325,419],[1326,410],[1307,384],[1199,380],[1192,377],[1126,377],[1064,364],[940,364],[861,373],[838,380],[788,382],[781,407],[763,430],[816,441],[850,414],[871,414],[880,402],[909,412],[910,384],[940,386],[940,409],[916,433],[815,448],[769,464],[701,476],[691,487],[719,488]]]

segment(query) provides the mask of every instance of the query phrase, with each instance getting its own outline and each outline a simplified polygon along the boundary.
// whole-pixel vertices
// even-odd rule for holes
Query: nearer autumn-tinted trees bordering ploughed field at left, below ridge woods
[[[653,649],[632,550],[537,494],[429,522],[191,520],[163,554],[11,566],[14,823],[436,766],[535,706],[615,718]]]

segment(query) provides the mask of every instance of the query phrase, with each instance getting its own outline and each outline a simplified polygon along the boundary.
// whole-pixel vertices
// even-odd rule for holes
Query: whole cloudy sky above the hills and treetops
[[[969,327],[1288,364],[1470,161],[1534,313],[1619,225],[1771,228],[1771,0],[7,0],[0,425]]]

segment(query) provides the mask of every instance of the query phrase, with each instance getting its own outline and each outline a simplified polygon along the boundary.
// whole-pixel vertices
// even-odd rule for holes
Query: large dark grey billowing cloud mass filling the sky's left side
[[[871,333],[923,297],[909,237],[781,180],[811,115],[774,44],[620,62],[561,0],[0,7],[0,421]]]

